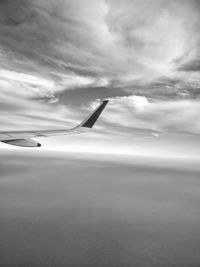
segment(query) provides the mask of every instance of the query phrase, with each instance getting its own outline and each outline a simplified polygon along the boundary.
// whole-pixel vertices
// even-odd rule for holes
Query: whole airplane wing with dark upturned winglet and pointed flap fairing
[[[78,126],[71,129],[60,129],[60,130],[42,130],[42,131],[11,131],[11,132],[0,132],[0,141],[9,145],[22,146],[22,147],[40,147],[41,144],[32,140],[34,137],[48,137],[56,135],[69,135],[79,134],[90,130],[105,106],[108,104],[108,100],[104,100],[101,104]]]

